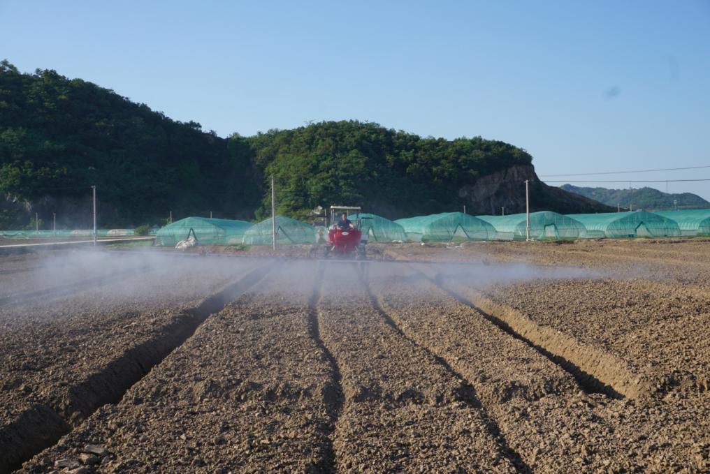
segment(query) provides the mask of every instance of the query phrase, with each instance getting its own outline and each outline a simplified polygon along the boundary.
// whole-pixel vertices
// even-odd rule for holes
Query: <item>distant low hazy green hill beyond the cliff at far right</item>
[[[607,189],[605,187],[577,187],[572,184],[563,184],[561,188],[565,191],[603,202],[608,206],[621,206],[624,209],[629,209],[631,206],[633,206],[633,209],[643,209],[645,211],[710,208],[710,202],[690,192],[672,194],[650,187]]]

